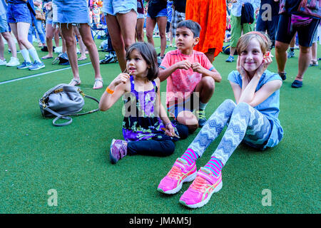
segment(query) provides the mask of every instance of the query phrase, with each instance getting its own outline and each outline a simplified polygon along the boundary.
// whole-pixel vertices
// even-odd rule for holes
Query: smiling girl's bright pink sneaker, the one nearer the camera
[[[222,173],[215,177],[210,170],[200,167],[197,177],[180,197],[180,203],[190,208],[203,207],[214,192],[222,188]]]

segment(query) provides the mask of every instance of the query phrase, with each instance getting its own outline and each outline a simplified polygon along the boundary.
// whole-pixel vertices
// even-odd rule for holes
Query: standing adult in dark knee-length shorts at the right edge
[[[317,31],[317,26],[320,24],[319,14],[302,14],[299,12],[300,1],[282,0],[280,1],[280,19],[277,28],[277,36],[275,41],[275,58],[277,61],[277,71],[282,80],[285,80],[285,63],[287,62],[287,48],[289,48],[292,38],[297,33],[299,38],[299,64],[297,76],[292,82],[292,88],[301,88],[303,84],[303,76],[310,65],[311,61],[311,46],[313,36]],[[308,7],[305,4],[302,9]],[[306,9],[310,11],[310,9]],[[310,11],[312,13],[312,11]]]

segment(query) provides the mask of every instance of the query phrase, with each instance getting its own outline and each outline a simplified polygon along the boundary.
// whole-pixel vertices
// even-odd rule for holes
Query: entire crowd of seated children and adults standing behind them
[[[8,0],[7,7],[4,0],[0,2],[1,34],[12,53],[9,63],[16,60],[16,49],[4,20],[8,21],[24,57],[24,63],[17,68],[43,68],[44,63],[28,40],[30,25],[36,26],[36,22],[32,22],[35,7],[40,7],[37,4],[41,0]],[[174,142],[188,138],[190,133],[201,128],[158,185],[159,192],[175,194],[184,182],[193,181],[180,197],[180,203],[191,208],[203,207],[213,193],[222,188],[221,171],[241,142],[265,150],[282,140],[283,129],[278,119],[280,88],[286,80],[285,64],[290,54],[287,49],[290,46],[293,51],[290,43],[295,42],[296,34],[300,53],[292,87],[302,87],[307,68],[318,65],[314,43],[317,42],[320,10],[309,4],[300,5],[301,1],[44,2],[49,54],[43,58],[53,57],[52,39],[55,38],[58,46],[57,34],[60,33],[63,51],[68,55],[73,72],[71,86],[81,85],[76,36],[91,58],[95,78],[93,89],[103,88],[91,24],[106,19],[121,73],[103,91],[99,108],[106,111],[121,97],[125,106],[124,139],[111,141],[109,153],[113,164],[127,155],[171,155],[175,150]],[[161,39],[159,54],[153,41],[156,25]],[[145,35],[147,42],[143,42]],[[207,119],[206,106],[214,95],[215,86],[222,80],[213,61],[223,50],[227,38],[230,54],[226,64],[237,63],[236,69],[228,75],[235,100],[225,100]],[[175,40],[175,50],[165,53],[167,39],[170,43]],[[43,42],[44,38],[41,38]],[[277,73],[267,70],[272,63],[272,48],[275,48]],[[162,81],[166,81],[166,107],[161,103]],[[227,129],[210,160],[197,171],[196,160],[225,126]]]

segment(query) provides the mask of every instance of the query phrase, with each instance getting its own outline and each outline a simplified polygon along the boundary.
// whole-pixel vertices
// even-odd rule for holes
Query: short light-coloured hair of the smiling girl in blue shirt
[[[236,45],[236,51],[238,51],[238,55],[248,48],[248,44],[253,38],[256,38],[260,43],[260,48],[263,54],[265,54],[267,51],[270,51],[271,41],[269,36],[260,31],[251,31],[249,33],[245,33],[239,38],[238,44]]]

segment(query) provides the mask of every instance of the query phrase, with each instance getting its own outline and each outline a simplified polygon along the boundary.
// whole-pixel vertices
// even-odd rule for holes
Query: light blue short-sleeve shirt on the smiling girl
[[[242,78],[238,71],[232,71],[228,76],[228,80],[238,84],[242,88]],[[266,83],[274,80],[282,81],[282,78],[277,73],[272,73],[266,70],[261,76],[255,92],[260,90],[260,88]],[[263,103],[260,103],[260,105],[257,105],[253,108],[265,115],[270,120],[272,125],[270,138],[267,140],[267,144],[263,147],[263,150],[266,147],[275,147],[275,145],[277,145],[283,138],[283,129],[279,120],[280,90],[276,90],[266,100],[264,100]]]

